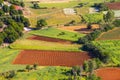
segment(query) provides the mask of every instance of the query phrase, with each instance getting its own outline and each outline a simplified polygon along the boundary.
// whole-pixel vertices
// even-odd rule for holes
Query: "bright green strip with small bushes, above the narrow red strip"
[[[78,41],[78,39],[80,37],[84,36],[84,34],[59,30],[56,28],[47,28],[47,29],[43,29],[43,30],[31,31],[30,34],[47,36],[47,37],[52,37],[52,38],[64,39],[64,40],[70,40],[70,41]]]

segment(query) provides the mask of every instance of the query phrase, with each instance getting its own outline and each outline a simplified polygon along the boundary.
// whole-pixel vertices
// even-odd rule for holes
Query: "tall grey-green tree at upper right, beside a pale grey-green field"
[[[107,14],[104,15],[104,21],[108,23],[112,23],[114,21],[114,12],[111,10],[108,10]]]

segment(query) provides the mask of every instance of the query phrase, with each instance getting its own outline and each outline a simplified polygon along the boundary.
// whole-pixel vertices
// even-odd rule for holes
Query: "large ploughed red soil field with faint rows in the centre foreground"
[[[24,50],[13,64],[38,64],[40,66],[75,66],[90,59],[87,52]]]

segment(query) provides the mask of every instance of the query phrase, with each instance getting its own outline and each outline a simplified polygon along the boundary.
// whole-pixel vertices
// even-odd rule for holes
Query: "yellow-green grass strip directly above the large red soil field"
[[[23,50],[57,50],[57,51],[81,51],[80,45],[71,44],[59,44],[53,42],[45,42],[38,40],[27,40],[21,39],[17,40],[10,45],[12,49],[23,49]]]

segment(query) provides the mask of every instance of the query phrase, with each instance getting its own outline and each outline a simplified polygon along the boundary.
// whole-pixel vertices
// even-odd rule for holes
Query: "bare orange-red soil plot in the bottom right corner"
[[[101,68],[95,73],[102,80],[120,80],[120,68]]]

